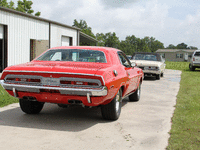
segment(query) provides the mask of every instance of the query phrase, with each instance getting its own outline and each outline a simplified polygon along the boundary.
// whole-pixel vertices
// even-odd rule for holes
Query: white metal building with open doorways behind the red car
[[[79,28],[0,7],[0,72],[29,62],[48,48],[79,45],[80,39],[97,42]]]

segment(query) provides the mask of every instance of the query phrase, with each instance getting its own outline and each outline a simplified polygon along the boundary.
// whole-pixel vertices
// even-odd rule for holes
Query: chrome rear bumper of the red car
[[[60,94],[87,96],[88,103],[91,103],[90,96],[106,96],[107,95],[107,87],[106,86],[103,86],[101,88],[93,88],[93,89],[44,87],[44,86],[7,84],[4,82],[4,80],[0,80],[0,84],[2,85],[2,87],[4,89],[13,91],[15,97],[17,97],[17,94],[16,94],[17,91],[40,93],[41,89],[58,90],[60,92]]]

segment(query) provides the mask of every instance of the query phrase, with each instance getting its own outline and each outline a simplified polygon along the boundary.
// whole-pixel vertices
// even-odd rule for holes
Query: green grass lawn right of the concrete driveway
[[[180,89],[172,118],[168,150],[200,149],[200,70],[189,71],[188,62],[166,62],[181,70]]]

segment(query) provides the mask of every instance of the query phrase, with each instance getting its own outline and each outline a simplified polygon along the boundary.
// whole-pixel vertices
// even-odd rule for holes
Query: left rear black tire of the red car
[[[19,105],[21,110],[27,114],[38,114],[42,110],[44,103],[19,99]]]

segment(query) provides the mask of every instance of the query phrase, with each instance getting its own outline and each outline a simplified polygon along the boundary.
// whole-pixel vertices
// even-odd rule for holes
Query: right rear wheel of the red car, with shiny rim
[[[122,107],[122,90],[119,89],[117,95],[107,105],[101,106],[101,114],[104,119],[117,120],[121,113]]]

